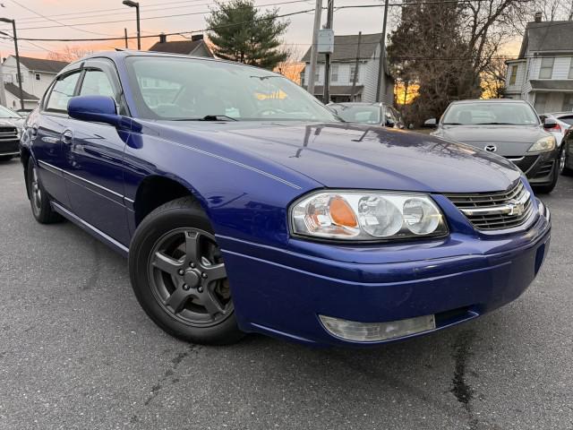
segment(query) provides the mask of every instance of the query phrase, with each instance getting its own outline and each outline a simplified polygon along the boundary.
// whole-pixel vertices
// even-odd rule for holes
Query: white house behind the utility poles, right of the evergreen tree
[[[358,49],[358,35],[346,35],[334,37],[334,52],[330,56],[330,101],[376,101],[378,84],[378,68],[381,53],[381,33],[363,34]],[[352,83],[355,74],[356,56],[358,62],[358,74],[356,79],[355,97],[352,99]],[[306,75],[310,64],[311,50],[304,54],[302,61],[306,64],[301,72],[301,85],[308,87]],[[324,55],[319,55],[317,70],[314,78],[314,95],[321,99],[324,85]],[[385,67],[386,91],[384,100],[390,105],[394,103],[394,80]],[[382,91],[381,91],[382,92]]]

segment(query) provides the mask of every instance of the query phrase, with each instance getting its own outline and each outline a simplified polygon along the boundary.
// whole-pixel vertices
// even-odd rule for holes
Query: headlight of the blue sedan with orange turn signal
[[[440,209],[423,193],[312,193],[290,210],[293,233],[376,241],[448,233]]]

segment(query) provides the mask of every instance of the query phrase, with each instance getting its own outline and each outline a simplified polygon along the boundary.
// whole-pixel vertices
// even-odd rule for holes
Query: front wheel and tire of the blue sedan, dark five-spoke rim
[[[141,307],[172,336],[210,345],[243,338],[210,220],[192,197],[167,202],[141,221],[129,271]]]

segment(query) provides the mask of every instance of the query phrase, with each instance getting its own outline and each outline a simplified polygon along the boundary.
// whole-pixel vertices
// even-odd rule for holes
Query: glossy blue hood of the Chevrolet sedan
[[[175,123],[165,132],[192,133],[210,150],[251,154],[329,188],[469,193],[505,190],[520,176],[508,160],[420,133],[348,123]],[[161,133],[161,132],[160,132]],[[165,136],[182,141],[181,136]],[[192,144],[188,137],[185,143]],[[227,156],[227,155],[226,155]],[[256,166],[265,168],[263,164]],[[270,173],[278,175],[279,172]]]

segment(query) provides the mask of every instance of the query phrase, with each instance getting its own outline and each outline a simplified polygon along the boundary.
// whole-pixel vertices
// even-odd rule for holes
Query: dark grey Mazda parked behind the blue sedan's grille
[[[539,193],[551,193],[559,178],[563,153],[551,130],[552,118],[542,123],[535,109],[524,100],[488,99],[450,103],[438,123],[431,118],[424,126],[432,134],[495,152],[517,165]]]

